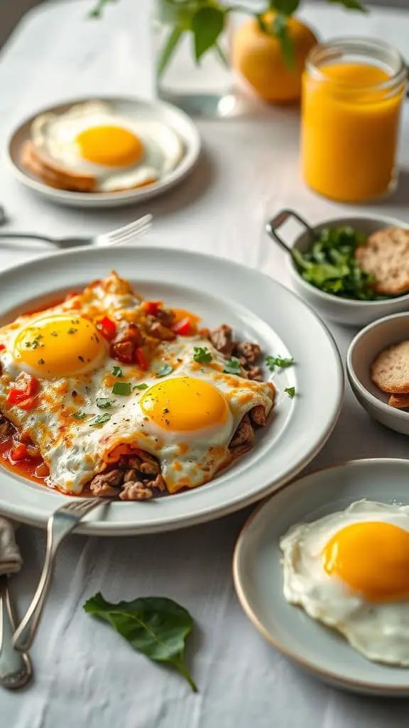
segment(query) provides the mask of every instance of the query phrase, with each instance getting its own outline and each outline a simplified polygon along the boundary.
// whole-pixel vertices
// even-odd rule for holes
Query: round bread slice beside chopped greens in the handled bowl
[[[373,275],[376,293],[398,296],[409,291],[409,230],[378,230],[355,250],[362,270]]]

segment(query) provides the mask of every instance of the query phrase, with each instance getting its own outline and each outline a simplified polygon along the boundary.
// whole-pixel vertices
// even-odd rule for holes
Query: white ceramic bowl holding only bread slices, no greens
[[[408,296],[405,296],[408,298]],[[355,336],[346,356],[346,371],[358,402],[378,422],[409,435],[409,412],[388,404],[389,395],[373,384],[370,365],[391,344],[409,339],[409,313],[394,314],[375,321]]]

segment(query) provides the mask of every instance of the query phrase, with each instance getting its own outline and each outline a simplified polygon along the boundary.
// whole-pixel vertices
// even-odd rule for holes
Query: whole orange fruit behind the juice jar
[[[264,16],[270,24],[274,14]],[[287,103],[301,97],[301,75],[306,56],[318,42],[311,29],[289,17],[287,33],[294,46],[294,68],[288,68],[279,39],[263,31],[252,17],[234,33],[232,63],[253,90],[266,101]]]

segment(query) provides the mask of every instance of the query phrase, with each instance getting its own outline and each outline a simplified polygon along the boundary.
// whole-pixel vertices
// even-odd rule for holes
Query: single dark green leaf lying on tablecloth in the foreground
[[[172,599],[154,596],[111,604],[98,592],[85,602],[84,609],[108,622],[150,660],[172,665],[197,692],[184,661],[185,641],[194,622],[183,606]]]

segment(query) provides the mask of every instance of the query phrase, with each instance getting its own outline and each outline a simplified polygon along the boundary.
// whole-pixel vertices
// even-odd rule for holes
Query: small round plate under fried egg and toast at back
[[[184,154],[175,170],[166,175],[162,180],[146,187],[130,189],[123,192],[70,192],[63,189],[49,187],[38,178],[30,175],[20,164],[20,149],[25,141],[30,138],[31,124],[36,116],[52,111],[55,114],[62,114],[68,111],[76,103],[98,100],[111,104],[119,114],[128,119],[135,119],[139,122],[162,122],[171,127],[183,142]],[[57,106],[49,106],[36,111],[36,114],[26,119],[23,124],[12,133],[7,143],[7,159],[12,173],[18,181],[26,187],[30,187],[52,202],[68,207],[120,207],[123,205],[135,205],[135,202],[150,199],[157,194],[170,189],[182,180],[191,171],[197,162],[200,152],[200,137],[196,125],[187,114],[180,111],[176,106],[159,101],[144,101],[138,98],[77,98]]]

